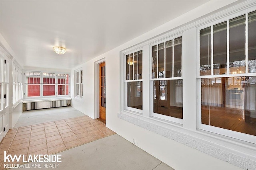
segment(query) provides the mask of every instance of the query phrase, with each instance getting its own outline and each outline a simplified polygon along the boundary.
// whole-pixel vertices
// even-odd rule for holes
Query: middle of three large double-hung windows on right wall
[[[183,118],[182,37],[151,45],[151,52],[152,115],[181,123],[178,119]]]

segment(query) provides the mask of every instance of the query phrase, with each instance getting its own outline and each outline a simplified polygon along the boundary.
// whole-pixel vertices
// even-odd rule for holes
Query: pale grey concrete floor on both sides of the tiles
[[[78,117],[84,115],[72,107],[44,109],[23,112],[15,127],[23,127],[50,121]],[[111,135],[96,141],[74,147],[62,152],[62,162],[58,168],[44,168],[50,163],[26,164],[30,169],[59,169],[59,170],[174,170],[154,156],[136,147],[119,135]],[[41,168],[31,168],[32,164],[40,164]]]

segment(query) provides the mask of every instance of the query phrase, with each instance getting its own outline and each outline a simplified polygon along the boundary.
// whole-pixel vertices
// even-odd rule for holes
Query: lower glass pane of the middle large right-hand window
[[[183,118],[182,80],[154,81],[154,113]]]

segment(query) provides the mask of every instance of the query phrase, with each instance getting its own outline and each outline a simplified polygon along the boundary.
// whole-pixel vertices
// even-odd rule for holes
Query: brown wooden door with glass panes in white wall
[[[100,119],[106,121],[106,66],[100,64]]]

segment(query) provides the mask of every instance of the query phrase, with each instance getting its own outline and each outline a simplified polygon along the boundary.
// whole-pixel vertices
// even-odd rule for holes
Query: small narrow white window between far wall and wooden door
[[[75,71],[75,96],[78,98],[83,97],[83,70],[78,69]]]

